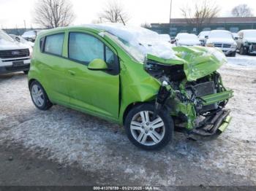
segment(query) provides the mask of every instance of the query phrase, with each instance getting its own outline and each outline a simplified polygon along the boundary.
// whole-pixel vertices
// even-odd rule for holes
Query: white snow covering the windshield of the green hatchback
[[[116,36],[118,44],[124,47],[136,60],[143,62],[147,54],[159,58],[176,58],[172,50],[172,44],[166,38],[146,28],[135,26],[123,26],[121,24],[99,24],[86,25],[90,28],[97,28],[107,31]]]

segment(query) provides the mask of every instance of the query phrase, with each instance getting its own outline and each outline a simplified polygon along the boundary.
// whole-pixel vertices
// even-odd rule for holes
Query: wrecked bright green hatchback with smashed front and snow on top
[[[29,70],[38,109],[53,104],[124,125],[143,149],[159,149],[173,130],[214,136],[227,128],[227,90],[213,47],[172,47],[146,28],[87,25],[41,32]]]

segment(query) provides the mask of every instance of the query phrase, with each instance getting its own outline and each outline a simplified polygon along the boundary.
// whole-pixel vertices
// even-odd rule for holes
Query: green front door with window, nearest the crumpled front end
[[[113,47],[100,36],[69,31],[67,87],[70,104],[78,109],[118,119],[119,63]],[[92,71],[88,64],[100,58],[111,71]]]

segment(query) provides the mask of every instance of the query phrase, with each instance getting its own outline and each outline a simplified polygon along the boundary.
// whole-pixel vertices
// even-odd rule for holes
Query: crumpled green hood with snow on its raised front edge
[[[178,59],[163,59],[154,55],[148,55],[148,60],[168,65],[184,65],[184,73],[187,81],[195,81],[208,74],[217,71],[223,64],[227,63],[227,58],[223,52],[214,47],[173,47]]]

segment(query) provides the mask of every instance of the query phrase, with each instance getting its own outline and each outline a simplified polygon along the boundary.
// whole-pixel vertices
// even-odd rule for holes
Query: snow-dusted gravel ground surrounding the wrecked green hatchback
[[[176,132],[173,143],[158,152],[134,147],[122,127],[105,120],[62,106],[39,111],[31,102],[26,75],[0,75],[0,145],[7,148],[0,153],[25,153],[30,160],[78,169],[73,179],[75,172],[91,177],[31,182],[31,171],[27,179],[10,182],[14,175],[5,174],[0,163],[0,184],[256,185],[256,57],[228,59],[220,72],[235,91],[227,106],[233,116],[229,128],[211,141],[190,141]],[[61,176],[52,165],[45,168]]]

